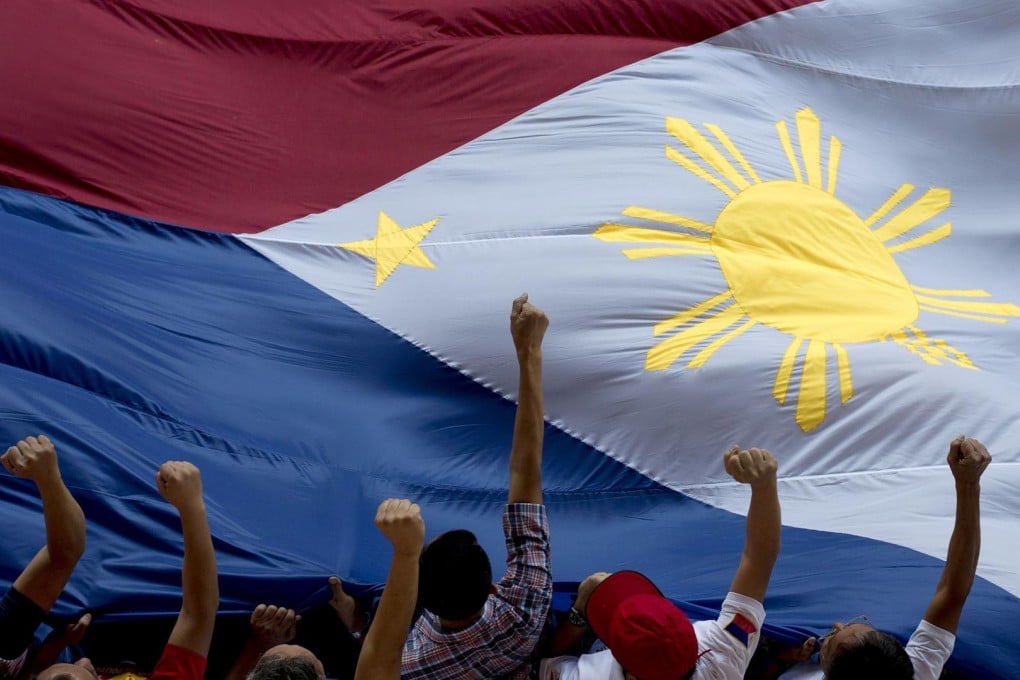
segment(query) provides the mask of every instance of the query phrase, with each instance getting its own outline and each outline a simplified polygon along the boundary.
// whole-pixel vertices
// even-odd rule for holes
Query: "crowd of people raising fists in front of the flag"
[[[358,680],[533,678],[541,680],[736,680],[762,639],[765,594],[780,551],[777,461],[762,449],[731,448],[726,472],[748,484],[746,538],[729,591],[714,620],[692,622],[646,576],[597,572],[580,583],[573,606],[551,615],[553,578],[549,522],[543,505],[542,344],[549,320],[521,296],[510,330],[519,366],[519,401],[503,513],[507,570],[494,581],[474,534],[442,533],[425,543],[420,508],[384,501],[375,526],[393,558],[374,611],[329,579],[329,603],[355,641]],[[85,552],[86,519],[64,485],[53,443],[29,436],[0,457],[10,474],[32,480],[42,500],[45,545],[0,600],[0,678],[97,680],[87,658],[55,663],[81,639],[88,614],[34,643]],[[977,440],[950,443],[956,481],[956,523],[946,566],[914,634],[904,644],[865,621],[836,623],[821,638],[770,655],[756,678],[934,680],[953,651],[960,615],[980,550],[980,478],[990,456]],[[182,607],[155,668],[154,680],[202,678],[216,623],[216,558],[206,520],[202,479],[191,463],[170,461],[156,473],[159,493],[177,511],[184,537]],[[556,619],[554,624],[554,619]],[[322,660],[294,644],[301,616],[275,605],[251,614],[250,635],[227,680],[322,680]],[[814,661],[817,657],[817,661]],[[124,676],[128,677],[128,676]],[[141,677],[134,675],[132,677]]]

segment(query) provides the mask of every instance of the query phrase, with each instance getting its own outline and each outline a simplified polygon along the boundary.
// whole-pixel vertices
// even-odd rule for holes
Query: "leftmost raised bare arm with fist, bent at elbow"
[[[15,477],[35,482],[43,502],[46,545],[14,580],[14,589],[48,612],[85,552],[85,515],[63,483],[56,450],[45,434],[21,439],[0,461]]]

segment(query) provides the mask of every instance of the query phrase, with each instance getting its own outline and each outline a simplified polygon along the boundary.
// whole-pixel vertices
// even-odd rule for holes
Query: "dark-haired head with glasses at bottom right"
[[[867,623],[837,623],[818,651],[828,680],[911,680],[914,666],[900,640]]]

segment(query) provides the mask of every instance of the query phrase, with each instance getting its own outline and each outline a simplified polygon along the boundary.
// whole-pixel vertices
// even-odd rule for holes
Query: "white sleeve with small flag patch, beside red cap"
[[[718,671],[718,677],[740,680],[758,647],[765,608],[753,597],[730,592],[715,621],[698,621],[698,650],[707,652],[702,664]]]

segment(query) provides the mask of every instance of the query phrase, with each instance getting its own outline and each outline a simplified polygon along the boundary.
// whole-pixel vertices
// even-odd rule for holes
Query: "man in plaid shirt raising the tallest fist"
[[[403,678],[527,678],[528,659],[553,596],[549,523],[542,505],[542,338],[545,312],[513,302],[510,334],[520,367],[520,396],[510,450],[510,490],[503,513],[507,571],[492,566],[470,531],[448,531],[421,555],[425,611],[404,644]]]

